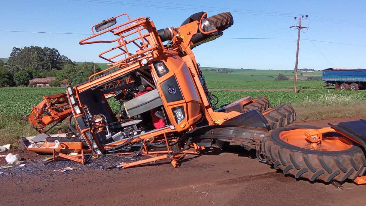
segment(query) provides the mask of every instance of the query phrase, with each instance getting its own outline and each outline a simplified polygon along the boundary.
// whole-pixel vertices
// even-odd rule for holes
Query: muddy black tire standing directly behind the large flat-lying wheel
[[[296,120],[296,112],[291,104],[270,108],[262,114],[267,119],[271,130],[287,126]]]

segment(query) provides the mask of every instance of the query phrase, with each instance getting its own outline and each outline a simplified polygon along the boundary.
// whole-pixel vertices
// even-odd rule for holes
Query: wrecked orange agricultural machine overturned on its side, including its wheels
[[[120,19],[127,20],[117,23]],[[323,129],[284,127],[296,119],[294,109],[270,108],[266,97],[215,108],[218,99],[207,89],[192,49],[220,37],[233,23],[229,12],[210,17],[199,12],[179,27],[160,30],[148,17],[127,14],[97,23],[93,35],[79,43],[112,45],[99,55],[110,67],[66,93],[44,96],[29,116],[42,134],[22,138],[22,146],[81,163],[101,155],[147,156],[119,165],[128,168],[161,159],[178,166],[184,155],[213,144],[238,144],[296,178],[362,183],[364,120]],[[110,98],[119,102],[117,114]],[[66,118],[72,132],[43,134]]]

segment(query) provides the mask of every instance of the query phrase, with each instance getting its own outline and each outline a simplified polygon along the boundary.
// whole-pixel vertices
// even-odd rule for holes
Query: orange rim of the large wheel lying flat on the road
[[[339,134],[336,136],[323,137],[318,148],[310,148],[305,132],[315,129],[294,129],[280,132],[279,137],[284,142],[296,147],[318,151],[343,151],[352,147],[352,142]]]

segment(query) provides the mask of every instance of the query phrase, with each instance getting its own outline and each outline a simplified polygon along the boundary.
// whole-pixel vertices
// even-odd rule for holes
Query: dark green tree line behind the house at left
[[[101,68],[93,62],[76,63],[61,55],[55,48],[30,46],[14,47],[7,63],[0,60],[0,87],[28,85],[32,78],[56,77],[52,85],[67,79],[76,85],[87,81]]]

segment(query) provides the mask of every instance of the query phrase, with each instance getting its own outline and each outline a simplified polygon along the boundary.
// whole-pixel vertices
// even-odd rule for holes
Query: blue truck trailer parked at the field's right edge
[[[324,69],[322,80],[325,87],[335,85],[335,89],[366,89],[366,69]]]

